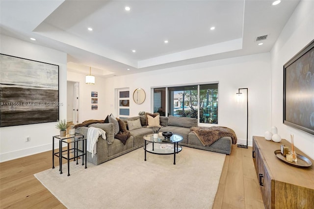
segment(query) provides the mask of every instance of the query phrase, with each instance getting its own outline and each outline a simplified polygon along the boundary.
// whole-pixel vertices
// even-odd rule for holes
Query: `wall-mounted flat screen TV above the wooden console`
[[[283,119],[314,135],[314,40],[284,65]]]

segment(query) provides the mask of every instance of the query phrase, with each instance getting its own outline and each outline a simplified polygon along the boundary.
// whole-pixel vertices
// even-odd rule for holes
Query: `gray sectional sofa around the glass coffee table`
[[[140,119],[141,127],[134,130],[128,130],[130,132],[130,137],[127,139],[125,144],[121,140],[115,138],[115,126],[117,126],[116,124],[94,123],[89,125],[88,127],[103,129],[106,134],[106,139],[103,139],[101,136],[98,138],[97,153],[92,157],[91,153],[87,152],[87,160],[98,165],[114,157],[121,156],[125,153],[143,147],[143,136],[149,133],[154,133],[152,128],[147,128],[146,126],[146,116],[136,116],[122,120],[127,125],[128,121],[130,123],[138,119]],[[181,135],[183,137],[183,141],[179,144],[182,146],[208,150],[227,155],[231,153],[232,138],[229,136],[219,138],[210,146],[203,146],[195,133],[190,131],[191,127],[197,127],[196,118],[160,116],[160,125],[162,126],[162,128],[160,128],[158,132],[171,131],[173,133]],[[76,132],[87,136],[88,127],[77,128]]]

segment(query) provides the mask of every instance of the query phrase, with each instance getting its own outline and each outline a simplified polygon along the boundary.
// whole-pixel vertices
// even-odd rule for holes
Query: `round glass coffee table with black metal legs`
[[[146,134],[143,139],[145,141],[145,161],[146,152],[149,152],[157,155],[173,155],[173,164],[176,164],[176,154],[182,151],[182,146],[179,145],[179,142],[183,140],[181,135],[173,134],[169,138],[158,135],[158,138],[154,138],[154,134]]]

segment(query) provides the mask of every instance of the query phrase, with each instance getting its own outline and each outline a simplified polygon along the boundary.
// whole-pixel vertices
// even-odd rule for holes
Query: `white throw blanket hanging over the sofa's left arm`
[[[103,139],[106,139],[106,132],[102,129],[89,127],[87,130],[87,151],[92,154],[92,158],[97,153],[98,137],[101,135]]]

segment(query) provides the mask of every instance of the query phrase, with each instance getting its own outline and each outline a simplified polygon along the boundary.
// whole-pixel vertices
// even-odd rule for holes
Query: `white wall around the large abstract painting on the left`
[[[66,53],[2,34],[0,45],[1,53],[59,65],[59,102],[63,103],[59,108],[59,117],[66,119]],[[52,136],[59,134],[55,124],[56,122],[0,128],[0,161],[52,150]],[[29,142],[26,142],[26,137],[30,137]]]

